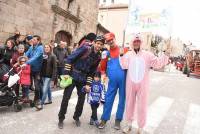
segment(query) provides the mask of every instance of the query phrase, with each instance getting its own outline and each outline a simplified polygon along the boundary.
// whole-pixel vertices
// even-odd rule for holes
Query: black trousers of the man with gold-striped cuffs
[[[58,114],[59,121],[63,121],[65,119],[65,114],[67,112],[69,99],[71,98],[72,91],[73,91],[74,87],[77,88],[78,102],[76,104],[76,108],[75,108],[73,118],[74,118],[74,120],[79,119],[79,117],[82,114],[83,105],[84,105],[84,102],[85,102],[85,93],[83,93],[81,91],[83,86],[84,86],[83,83],[76,82],[76,81],[73,80],[72,84],[70,86],[68,86],[67,88],[65,88],[64,94],[63,94],[63,99],[62,99],[61,106],[60,106],[60,111],[59,111],[59,114]]]

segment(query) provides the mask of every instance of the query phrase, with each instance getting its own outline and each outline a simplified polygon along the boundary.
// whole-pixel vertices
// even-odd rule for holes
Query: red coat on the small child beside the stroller
[[[21,68],[18,68],[18,72],[20,72],[20,70]],[[26,65],[25,67],[23,67],[19,76],[20,76],[19,84],[30,86],[31,85],[31,66]]]

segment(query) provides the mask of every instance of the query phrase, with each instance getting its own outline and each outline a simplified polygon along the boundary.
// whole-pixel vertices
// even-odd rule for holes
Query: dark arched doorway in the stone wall
[[[71,44],[72,35],[64,30],[58,31],[55,35],[55,42],[60,43],[60,41],[67,42],[67,45]]]

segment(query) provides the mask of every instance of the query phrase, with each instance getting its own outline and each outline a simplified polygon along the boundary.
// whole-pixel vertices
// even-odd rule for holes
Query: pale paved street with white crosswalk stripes
[[[168,72],[171,71],[171,72]],[[200,133],[200,80],[188,78],[174,69],[167,72],[151,72],[148,120],[146,131],[150,134],[199,134]],[[64,129],[57,128],[57,114],[62,91],[54,92],[53,104],[44,110],[24,106],[21,112],[0,108],[0,134],[120,134],[113,129],[117,99],[112,119],[105,130],[88,124],[91,110],[85,103],[81,127],[75,127],[72,116],[76,104],[76,91],[71,98]],[[99,109],[99,117],[102,107]],[[124,126],[124,122],[122,126]],[[133,124],[137,127],[136,123]],[[134,133],[134,132],[131,132]]]

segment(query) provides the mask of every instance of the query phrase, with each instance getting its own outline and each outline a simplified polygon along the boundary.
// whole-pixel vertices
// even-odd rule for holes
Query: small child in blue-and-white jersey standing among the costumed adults
[[[91,84],[90,91],[83,88],[83,92],[87,93],[87,101],[91,105],[92,116],[90,118],[90,125],[96,125],[98,127],[99,122],[97,118],[97,108],[99,104],[104,104],[105,100],[105,87],[101,84],[101,73],[96,72],[94,75],[94,81]]]

